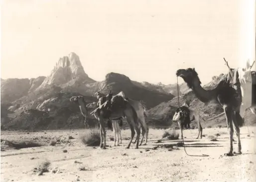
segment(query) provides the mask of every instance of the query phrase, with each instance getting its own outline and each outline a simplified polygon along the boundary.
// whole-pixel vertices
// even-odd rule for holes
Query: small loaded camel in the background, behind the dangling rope
[[[186,105],[182,105],[181,107],[178,107],[176,109],[172,120],[178,122],[181,138],[183,138],[182,129],[184,125],[189,124],[191,121],[195,120],[198,127],[198,136],[196,139],[199,138],[200,133],[201,133],[200,137],[202,138],[203,128],[200,123],[200,115],[194,110],[190,110]]]

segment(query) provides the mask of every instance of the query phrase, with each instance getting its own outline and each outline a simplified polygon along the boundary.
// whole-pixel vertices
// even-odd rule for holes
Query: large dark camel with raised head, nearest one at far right
[[[240,106],[241,106],[241,89],[239,89],[238,85],[234,85],[232,83],[232,79],[227,77],[224,80],[221,80],[218,86],[213,90],[204,90],[201,87],[201,82],[196,73],[195,69],[180,69],[177,70],[176,75],[181,77],[188,85],[190,89],[192,89],[195,95],[204,103],[208,103],[213,101],[215,103],[219,103],[225,112],[228,131],[229,131],[229,139],[230,139],[230,147],[228,153],[225,156],[233,156],[234,154],[242,154],[241,152],[241,141],[240,141],[240,126],[243,126],[243,118],[240,115]],[[238,137],[238,152],[234,152],[233,154],[233,124],[235,126],[235,131]]]

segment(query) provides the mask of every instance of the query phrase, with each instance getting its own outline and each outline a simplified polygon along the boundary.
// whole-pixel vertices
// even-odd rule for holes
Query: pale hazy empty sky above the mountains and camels
[[[1,78],[48,76],[75,52],[96,81],[170,84],[194,67],[207,83],[223,57],[255,60],[254,23],[255,0],[2,0]]]

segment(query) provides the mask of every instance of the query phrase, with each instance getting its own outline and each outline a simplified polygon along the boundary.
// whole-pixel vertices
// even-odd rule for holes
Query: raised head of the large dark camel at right
[[[198,74],[195,71],[195,68],[188,68],[188,69],[180,69],[176,72],[177,77],[181,77],[191,89],[193,86],[193,81],[198,80],[199,84],[201,84]]]

